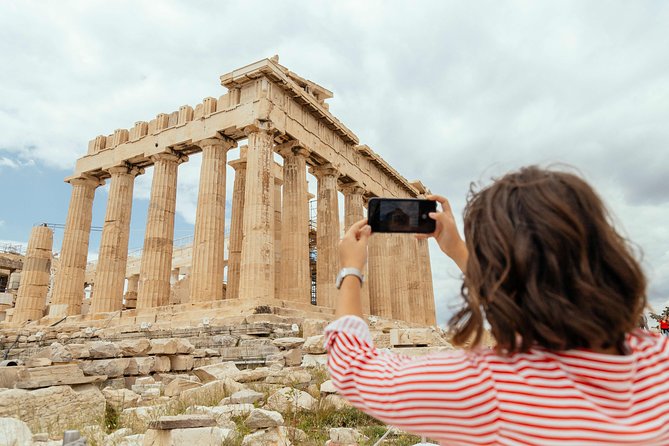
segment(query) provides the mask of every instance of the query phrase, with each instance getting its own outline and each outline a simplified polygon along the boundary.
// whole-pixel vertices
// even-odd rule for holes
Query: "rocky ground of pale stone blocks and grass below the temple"
[[[387,427],[329,380],[316,334],[326,321],[297,330],[288,322],[195,338],[108,341],[91,331],[45,341],[45,332],[19,333],[19,365],[0,368],[0,446],[61,445],[71,429],[104,446],[374,444]],[[377,323],[373,333],[380,347],[407,354],[452,348],[430,328]],[[253,354],[226,360],[230,349]],[[382,444],[418,441],[392,431]]]

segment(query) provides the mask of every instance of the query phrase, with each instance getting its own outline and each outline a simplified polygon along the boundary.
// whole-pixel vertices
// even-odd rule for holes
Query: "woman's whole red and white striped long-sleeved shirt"
[[[367,324],[326,329],[335,388],[355,407],[448,445],[669,445],[667,338],[635,331],[625,356],[490,349],[407,357]]]

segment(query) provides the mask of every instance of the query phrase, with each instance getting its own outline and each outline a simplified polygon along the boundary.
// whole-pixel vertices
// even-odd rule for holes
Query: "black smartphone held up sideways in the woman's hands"
[[[437,202],[418,198],[371,198],[367,219],[372,232],[417,232],[431,234],[436,222],[429,217]]]

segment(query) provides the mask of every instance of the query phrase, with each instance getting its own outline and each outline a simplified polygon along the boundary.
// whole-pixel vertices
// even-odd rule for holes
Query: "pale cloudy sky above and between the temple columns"
[[[361,143],[459,215],[472,181],[576,167],[642,252],[659,310],[669,300],[667,23],[659,0],[0,2],[0,241],[65,222],[63,178],[89,139],[218,97],[219,75],[279,54],[334,92],[330,110]],[[199,162],[180,167],[176,237],[193,232]],[[142,245],[150,184],[148,169],[131,247]],[[94,226],[106,194],[96,193]],[[57,230],[54,250],[61,240]],[[458,273],[431,248],[444,321]]]

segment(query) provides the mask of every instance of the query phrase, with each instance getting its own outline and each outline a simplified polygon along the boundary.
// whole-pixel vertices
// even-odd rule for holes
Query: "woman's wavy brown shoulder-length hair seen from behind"
[[[471,191],[465,305],[458,344],[490,324],[501,353],[541,346],[625,351],[646,306],[646,279],[595,191],[578,176],[530,166]]]

